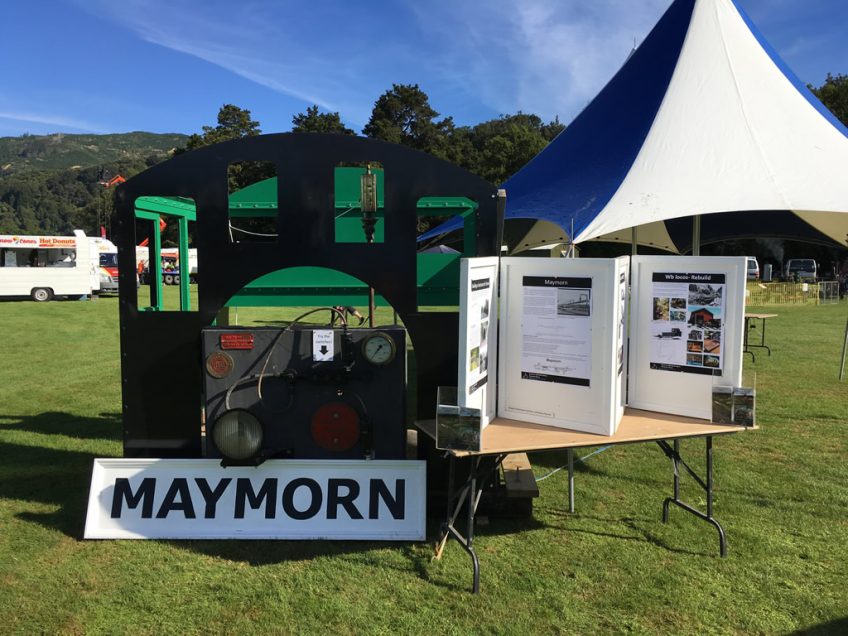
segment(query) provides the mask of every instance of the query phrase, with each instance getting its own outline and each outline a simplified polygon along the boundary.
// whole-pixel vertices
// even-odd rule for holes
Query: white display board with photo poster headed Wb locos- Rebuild
[[[631,276],[630,406],[710,419],[742,381],[745,257],[634,256]]]

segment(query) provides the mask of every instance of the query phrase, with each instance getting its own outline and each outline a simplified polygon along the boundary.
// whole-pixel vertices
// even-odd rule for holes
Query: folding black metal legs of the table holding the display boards
[[[719,554],[721,557],[727,556],[727,538],[725,537],[724,528],[713,516],[713,436],[704,436],[706,440],[706,477],[701,478],[689,464],[687,464],[680,456],[680,439],[673,440],[670,445],[667,440],[653,440],[662,449],[663,453],[671,460],[674,467],[674,490],[673,496],[666,497],[663,501],[663,523],[668,523],[668,509],[670,504],[674,504],[679,508],[695,515],[699,519],[710,523],[718,531],[719,537]],[[645,440],[650,441],[650,440]],[[628,442],[633,443],[633,442]],[[550,450],[550,449],[549,449]],[[574,449],[566,448],[567,466],[568,466],[568,511],[574,512]],[[518,451],[516,451],[518,452]],[[448,453],[448,489],[447,489],[447,505],[446,518],[442,524],[439,540],[436,542],[436,558],[441,557],[442,551],[447,544],[448,539],[453,538],[459,543],[460,547],[471,558],[471,567],[473,571],[471,591],[474,594],[480,593],[480,560],[477,557],[477,552],[474,549],[474,517],[477,514],[477,506],[480,503],[482,494],[481,484],[492,476],[493,472],[503,462],[504,458],[509,453],[501,453],[498,455],[465,455],[457,457],[453,453]],[[456,487],[456,462],[458,459],[468,459],[470,462],[470,470],[465,482]],[[483,460],[494,460],[491,464]],[[707,512],[703,513],[697,508],[687,504],[680,499],[680,467],[683,467],[686,472],[701,486],[707,494]],[[465,507],[466,529],[465,534],[457,530],[456,522]]]

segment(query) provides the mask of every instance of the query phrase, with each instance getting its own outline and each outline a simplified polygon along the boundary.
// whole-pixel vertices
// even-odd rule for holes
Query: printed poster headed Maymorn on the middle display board
[[[589,386],[592,279],[524,276],[521,378]]]

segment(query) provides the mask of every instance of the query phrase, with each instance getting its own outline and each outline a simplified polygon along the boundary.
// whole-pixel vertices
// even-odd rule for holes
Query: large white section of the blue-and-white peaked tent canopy
[[[633,166],[575,242],[634,220],[792,210],[848,245],[846,168],[844,127],[798,90],[731,0],[698,0]]]

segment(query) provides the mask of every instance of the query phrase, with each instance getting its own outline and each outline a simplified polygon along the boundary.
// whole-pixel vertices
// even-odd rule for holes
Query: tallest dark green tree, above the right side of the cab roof
[[[447,158],[453,119],[436,118],[439,113],[418,84],[392,84],[374,103],[371,118],[362,132],[374,139],[423,150]]]

